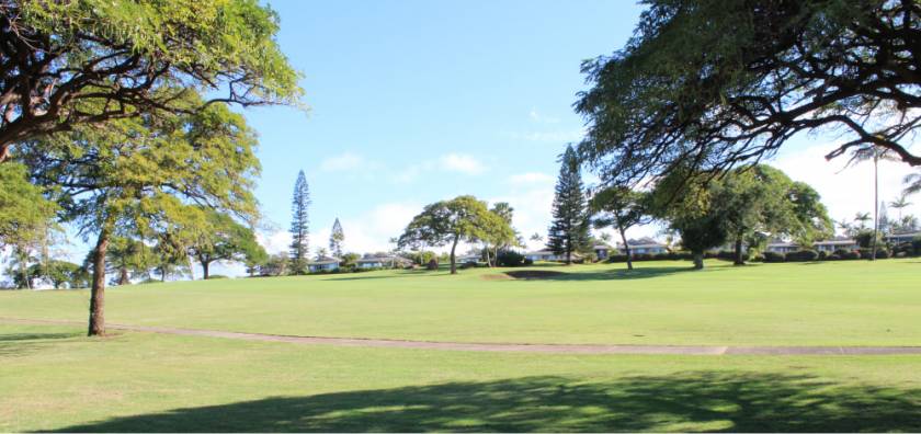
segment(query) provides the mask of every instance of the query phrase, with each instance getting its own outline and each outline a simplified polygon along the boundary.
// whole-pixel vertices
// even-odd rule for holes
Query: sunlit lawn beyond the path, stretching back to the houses
[[[712,261],[500,271],[374,272],[107,289],[111,322],[457,342],[921,345],[921,261]],[[0,292],[0,317],[87,318],[88,293]]]

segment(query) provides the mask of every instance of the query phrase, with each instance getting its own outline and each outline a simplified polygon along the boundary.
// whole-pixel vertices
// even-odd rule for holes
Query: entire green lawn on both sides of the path
[[[921,262],[541,266],[111,288],[111,322],[468,342],[921,344]],[[87,318],[84,290],[0,317]],[[5,431],[921,431],[921,356],[338,347],[0,321]]]

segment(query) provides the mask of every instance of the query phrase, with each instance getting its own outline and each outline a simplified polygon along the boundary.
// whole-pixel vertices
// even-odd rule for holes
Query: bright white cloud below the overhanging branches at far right
[[[845,168],[846,157],[826,161],[831,144],[797,149],[769,162],[792,179],[811,185],[822,196],[834,219],[852,219],[856,213],[873,212],[873,163],[864,162]],[[900,162],[879,162],[879,201],[889,203],[901,194],[902,179],[912,169]],[[905,209],[905,214],[921,216],[921,199]],[[889,217],[897,217],[888,210]]]

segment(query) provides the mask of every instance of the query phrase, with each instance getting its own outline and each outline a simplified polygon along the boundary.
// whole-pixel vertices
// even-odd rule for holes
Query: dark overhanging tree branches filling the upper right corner
[[[921,164],[921,8],[912,0],[650,0],[634,36],[587,61],[580,157],[616,184],[723,172],[799,133]]]

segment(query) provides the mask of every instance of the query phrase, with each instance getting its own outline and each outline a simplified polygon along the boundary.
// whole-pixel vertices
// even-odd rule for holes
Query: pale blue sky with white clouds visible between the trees
[[[571,108],[585,89],[580,64],[621,48],[641,11],[594,0],[271,5],[310,111],[245,111],[260,137],[257,195],[269,224],[260,239],[270,252],[289,242],[299,170],[310,184],[312,248],[327,245],[339,217],[348,251],[387,250],[423,205],[461,194],[510,202],[522,233],[545,233],[557,156],[582,132]],[[769,161],[812,184],[833,218],[873,207],[869,165],[842,172],[841,162],[823,160],[840,141],[796,137]],[[884,199],[897,195],[908,171],[883,167]],[[914,202],[910,212],[921,215],[921,198]],[[67,250],[79,261],[87,247],[72,239]]]

